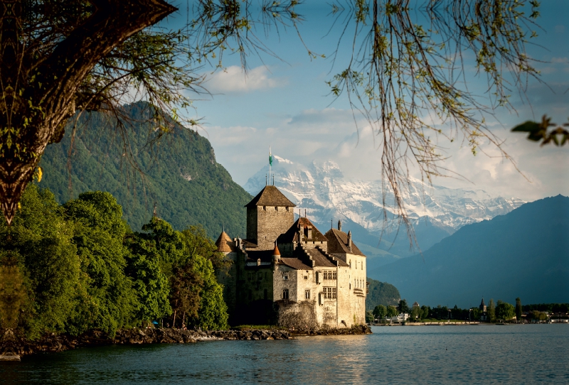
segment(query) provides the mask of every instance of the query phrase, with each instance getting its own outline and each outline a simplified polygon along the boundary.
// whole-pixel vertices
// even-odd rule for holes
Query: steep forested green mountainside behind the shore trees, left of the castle
[[[60,143],[48,146],[41,160],[41,187],[49,188],[60,203],[87,190],[108,191],[135,230],[149,222],[156,203],[156,214],[175,229],[202,224],[209,237],[217,237],[225,226],[231,236],[244,237],[243,205],[252,197],[216,162],[211,143],[178,126],[159,143],[149,144],[155,134],[145,118],[148,105],[140,102],[124,109],[132,121],[124,134],[108,116],[85,112],[71,156],[70,128]],[[132,166],[128,151],[137,166]]]

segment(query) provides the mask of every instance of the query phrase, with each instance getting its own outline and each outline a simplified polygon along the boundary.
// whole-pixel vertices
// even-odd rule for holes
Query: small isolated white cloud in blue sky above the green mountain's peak
[[[245,73],[240,66],[232,65],[223,71],[206,75],[206,82],[203,85],[212,94],[225,94],[283,87],[287,85],[287,80],[282,77],[272,77],[265,66],[252,68]]]

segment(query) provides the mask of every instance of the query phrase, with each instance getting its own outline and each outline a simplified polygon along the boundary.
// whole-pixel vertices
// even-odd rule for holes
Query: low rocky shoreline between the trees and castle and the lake
[[[103,345],[143,345],[143,344],[187,344],[203,340],[291,340],[300,336],[313,335],[362,335],[371,334],[367,325],[345,329],[323,330],[282,330],[282,329],[250,329],[250,330],[180,330],[180,329],[122,329],[117,330],[114,338],[105,333],[93,330],[79,336],[45,335],[37,341],[26,340],[1,332],[4,337],[0,346],[9,345],[9,354],[0,354],[0,361],[19,361],[20,357],[29,354],[63,352],[77,347]],[[6,346],[5,346],[6,347]]]

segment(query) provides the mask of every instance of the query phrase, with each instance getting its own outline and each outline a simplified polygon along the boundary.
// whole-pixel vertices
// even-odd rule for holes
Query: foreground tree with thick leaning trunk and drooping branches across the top
[[[61,139],[75,111],[116,113],[129,91],[140,90],[135,99],[149,99],[177,116],[176,107],[189,104],[184,89],[200,85],[192,65],[218,58],[214,65],[223,67],[221,58],[229,48],[246,67],[248,53],[270,53],[252,33],[256,26],[268,32],[271,26],[297,28],[302,21],[296,0],[263,4],[258,17],[251,13],[250,0],[201,0],[196,17],[181,31],[148,28],[176,10],[163,0],[8,4],[0,26],[0,119],[5,128],[0,199],[9,223],[44,149]],[[362,112],[378,134],[382,175],[403,221],[408,157],[430,180],[443,171],[438,165],[444,157],[434,138],[456,137],[455,131],[433,126],[431,113],[461,131],[473,153],[482,139],[501,148],[479,113],[509,105],[511,90],[523,92],[525,77],[537,76],[525,52],[539,14],[537,2],[529,4],[528,16],[526,1],[517,0],[425,1],[415,9],[406,1],[389,0],[346,6],[349,14],[341,17],[346,31],[353,27],[354,43],[347,55],[350,64],[329,81],[331,94],[346,92],[353,111]],[[332,15],[340,17],[343,10],[339,2],[331,6]],[[477,70],[487,77],[493,95],[489,108],[460,78],[463,71],[457,69],[464,65],[465,53],[474,54]],[[169,119],[157,110],[150,115],[149,121],[158,119],[157,125],[169,131]]]

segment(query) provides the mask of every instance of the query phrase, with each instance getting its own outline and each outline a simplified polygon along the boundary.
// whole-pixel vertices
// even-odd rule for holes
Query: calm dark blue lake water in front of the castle
[[[0,363],[4,384],[569,383],[569,325],[77,349]]]

